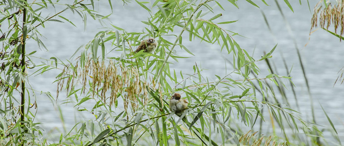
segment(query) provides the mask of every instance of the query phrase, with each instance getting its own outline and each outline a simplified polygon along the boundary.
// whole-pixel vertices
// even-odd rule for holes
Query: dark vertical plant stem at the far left
[[[25,0],[26,3],[27,0]],[[22,40],[21,40],[21,62],[20,62],[20,68],[21,68],[21,73],[25,75],[25,41],[26,41],[26,33],[27,33],[27,28],[26,28],[26,8],[23,8],[23,26],[22,26]],[[21,125],[23,125],[23,121],[25,120],[25,114],[24,114],[24,107],[25,106],[25,82],[24,79],[21,80],[21,104],[20,104],[20,121]]]

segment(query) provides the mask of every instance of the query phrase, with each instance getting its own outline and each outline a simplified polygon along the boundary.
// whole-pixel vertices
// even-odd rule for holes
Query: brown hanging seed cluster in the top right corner
[[[318,14],[319,16],[319,25],[322,28],[326,28],[328,30],[328,27],[331,25],[331,23],[334,25],[335,33],[337,34],[337,28],[340,28],[340,36],[343,37],[344,34],[344,0],[338,0],[337,5],[332,3],[328,3],[327,7],[322,9],[322,5],[319,6],[319,4],[323,0],[320,0],[314,7],[314,14],[311,19],[311,30],[314,27],[318,26]],[[340,37],[341,41],[342,38]]]

